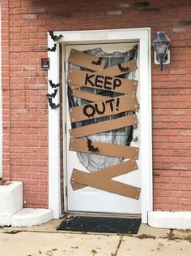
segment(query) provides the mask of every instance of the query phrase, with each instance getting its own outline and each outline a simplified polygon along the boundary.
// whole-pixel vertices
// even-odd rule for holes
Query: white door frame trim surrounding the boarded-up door
[[[152,210],[152,142],[151,142],[151,28],[86,30],[54,32],[64,37],[59,43],[91,44],[139,41],[140,47],[140,105],[141,141],[140,154],[142,168],[142,223],[147,223],[148,211]],[[49,35],[49,33],[48,33]],[[48,46],[53,47],[53,40],[48,38]],[[49,51],[50,68],[48,79],[59,82],[59,51]],[[54,100],[58,102],[59,97]],[[56,102],[56,103],[57,103]],[[60,191],[60,111],[49,108],[49,208],[55,219],[61,216]],[[65,172],[66,176],[66,172]]]

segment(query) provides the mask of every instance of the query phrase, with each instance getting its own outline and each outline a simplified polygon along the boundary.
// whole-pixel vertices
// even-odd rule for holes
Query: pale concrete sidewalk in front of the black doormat
[[[141,225],[136,236],[57,231],[61,219],[32,228],[1,228],[2,256],[189,256],[191,231]]]

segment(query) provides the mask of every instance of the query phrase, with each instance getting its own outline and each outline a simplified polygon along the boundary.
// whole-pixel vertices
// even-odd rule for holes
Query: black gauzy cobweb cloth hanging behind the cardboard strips
[[[93,50],[87,50],[84,51],[87,54],[91,55],[96,55],[100,59],[105,60],[105,66],[106,67],[111,67],[120,63],[124,63],[125,61],[129,61],[132,59],[137,60],[138,56],[138,45],[135,45],[131,50],[126,51],[124,53],[121,52],[114,52],[111,54],[105,53],[103,50],[100,48],[96,48]],[[91,70],[84,68],[84,67],[79,67],[75,66],[72,64],[69,64],[69,69],[78,69],[78,70],[85,70],[88,72],[92,72]],[[135,72],[129,72],[128,74],[117,76],[121,78],[126,78],[126,79],[134,79],[135,77]],[[121,93],[116,93],[116,92],[111,92],[111,91],[104,91],[102,89],[91,89],[91,88],[86,88],[82,87],[81,88],[84,91],[91,92],[91,93],[97,93],[100,95],[105,95],[109,97],[117,97],[121,96],[123,94]],[[70,89],[70,86],[68,86],[67,90],[68,94],[68,102],[69,106],[80,106],[83,104],[90,103],[87,100],[84,100],[82,98],[74,98],[74,95],[72,93],[72,90]],[[95,124],[98,122],[104,122],[105,120],[109,119],[117,119],[119,117],[125,116],[125,115],[132,115],[134,114],[133,111],[126,111],[124,113],[120,113],[117,115],[110,115],[110,116],[105,116],[105,117],[100,117],[98,119],[88,119],[84,120],[81,122],[77,123],[71,123],[71,128],[78,128],[82,127],[88,124]],[[81,140],[87,141],[97,141],[101,143],[111,143],[111,144],[117,144],[117,145],[130,145],[133,137],[133,126],[125,127],[125,128],[118,128],[112,131],[108,132],[101,132],[97,134],[93,134],[88,137],[82,137],[80,138]],[[94,172],[96,170],[103,169],[104,167],[109,167],[112,165],[115,165],[117,163],[123,162],[124,158],[117,158],[117,157],[111,157],[111,156],[103,156],[99,154],[87,154],[87,153],[80,153],[77,152],[79,162],[83,164],[84,167],[86,167],[87,171]]]

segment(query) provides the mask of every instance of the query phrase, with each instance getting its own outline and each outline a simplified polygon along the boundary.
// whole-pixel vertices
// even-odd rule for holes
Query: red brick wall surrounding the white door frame
[[[3,176],[25,206],[48,206],[47,31],[141,27],[172,39],[170,65],[152,63],[154,209],[191,210],[190,0],[2,0]]]

